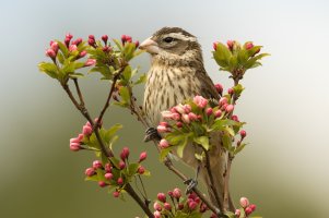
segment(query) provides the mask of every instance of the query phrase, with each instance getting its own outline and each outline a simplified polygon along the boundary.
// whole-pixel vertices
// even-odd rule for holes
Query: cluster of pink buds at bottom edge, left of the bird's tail
[[[176,187],[168,192],[167,199],[165,193],[157,194],[157,201],[153,204],[154,218],[167,217],[168,214],[173,215],[177,210],[181,210],[185,214],[191,214],[193,211],[204,213],[208,207],[201,202],[201,199],[191,193],[187,196],[187,199],[181,197],[181,191]]]

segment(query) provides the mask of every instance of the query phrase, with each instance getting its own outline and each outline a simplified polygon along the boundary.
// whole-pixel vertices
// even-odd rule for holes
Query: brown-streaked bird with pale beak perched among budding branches
[[[161,112],[200,95],[218,99],[219,93],[204,70],[201,46],[192,34],[180,27],[163,27],[140,44],[140,49],[151,55],[148,72],[143,111],[151,126],[162,121]],[[221,147],[219,135],[211,137],[215,146],[210,152],[210,168],[213,173],[216,193],[223,202],[223,182],[226,155]],[[210,201],[216,205],[210,178],[204,165],[195,157],[200,149],[193,144],[186,146],[181,160],[193,169],[199,169],[208,189]]]

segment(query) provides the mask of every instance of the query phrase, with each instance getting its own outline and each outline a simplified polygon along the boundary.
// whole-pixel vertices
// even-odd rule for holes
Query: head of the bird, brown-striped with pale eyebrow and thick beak
[[[140,49],[148,51],[156,62],[202,62],[201,47],[197,38],[179,27],[161,28],[145,39]]]

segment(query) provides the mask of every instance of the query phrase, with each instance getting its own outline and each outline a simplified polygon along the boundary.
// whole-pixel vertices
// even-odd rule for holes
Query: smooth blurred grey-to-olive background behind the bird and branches
[[[266,218],[326,218],[329,166],[329,3],[303,1],[1,1],[0,7],[0,217],[134,217],[134,203],[114,199],[84,182],[91,153],[71,153],[69,138],[84,124],[58,83],[37,63],[52,38],[121,34],[143,40],[163,26],[180,26],[203,47],[214,82],[230,87],[211,59],[212,41],[237,39],[263,45],[263,66],[248,72],[238,106],[250,145],[233,166],[235,201],[248,196]],[[137,60],[142,71],[149,57]],[[92,114],[104,104],[105,82],[82,83]],[[142,97],[142,88],[138,90]],[[105,125],[121,122],[120,142],[149,150],[149,194],[183,184],[157,161],[143,129],[127,111],[111,108]],[[136,155],[138,158],[138,154]],[[191,173],[189,169],[185,169]]]

